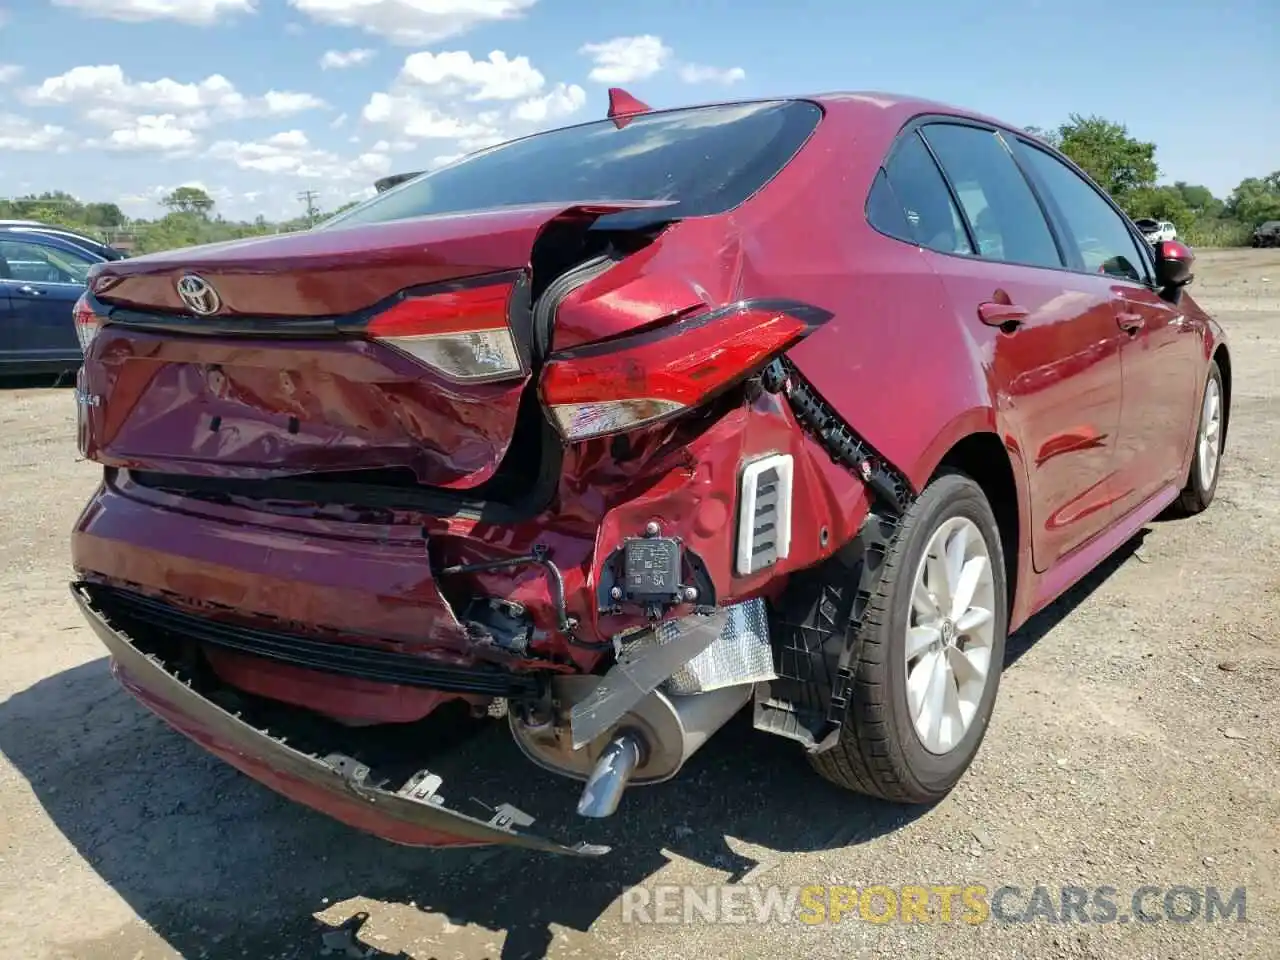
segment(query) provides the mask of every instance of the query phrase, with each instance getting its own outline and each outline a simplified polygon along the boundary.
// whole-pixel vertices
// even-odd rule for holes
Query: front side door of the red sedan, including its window
[[[1196,324],[1162,300],[1149,246],[1106,196],[1059,157],[1016,141],[1025,168],[1060,224],[1073,268],[1106,296],[1121,330],[1124,404],[1116,442],[1116,511],[1125,513],[1169,484],[1183,461],[1199,403],[1203,343]],[[1162,233],[1172,228],[1160,223]]]

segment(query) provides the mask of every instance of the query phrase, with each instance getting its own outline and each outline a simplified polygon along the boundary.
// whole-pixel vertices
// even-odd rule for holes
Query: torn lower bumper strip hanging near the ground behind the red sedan
[[[408,846],[504,844],[570,856],[600,856],[609,847],[567,845],[526,832],[532,818],[502,804],[488,819],[449,809],[440,781],[429,772],[398,792],[369,781],[369,768],[343,755],[302,753],[201,695],[157,657],[140,649],[96,608],[92,585],[73,584],[72,595],[111,655],[111,671],[145,707],[180,733],[253,780],[351,827]]]

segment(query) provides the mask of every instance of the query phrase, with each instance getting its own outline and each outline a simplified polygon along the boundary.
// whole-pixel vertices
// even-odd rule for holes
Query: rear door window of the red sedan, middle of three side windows
[[[942,164],[978,253],[1029,266],[1064,266],[1036,195],[1012,156],[992,131],[931,123],[924,138]]]

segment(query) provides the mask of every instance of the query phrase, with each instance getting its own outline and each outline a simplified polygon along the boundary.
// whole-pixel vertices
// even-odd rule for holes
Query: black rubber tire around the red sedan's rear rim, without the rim
[[[986,689],[960,742],[929,753],[916,736],[906,703],[906,628],[916,567],[934,531],[968,517],[991,557],[996,602],[995,639]],[[946,796],[982,745],[1000,689],[1009,631],[1007,581],[1000,529],[991,504],[969,476],[943,472],[923,490],[890,543],[879,589],[867,604],[854,637],[855,684],[835,746],[810,754],[814,769],[847,790],[897,803],[928,804]]]

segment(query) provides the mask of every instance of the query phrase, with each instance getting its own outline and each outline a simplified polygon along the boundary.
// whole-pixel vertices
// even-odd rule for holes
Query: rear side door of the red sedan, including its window
[[[996,129],[931,120],[919,136],[972,250],[940,253],[933,268],[960,321],[991,337],[997,411],[1025,463],[1032,554],[1043,571],[1112,517],[1121,403],[1112,306],[1092,278],[1068,269],[1038,196]],[[992,326],[1001,320],[1007,323]]]

